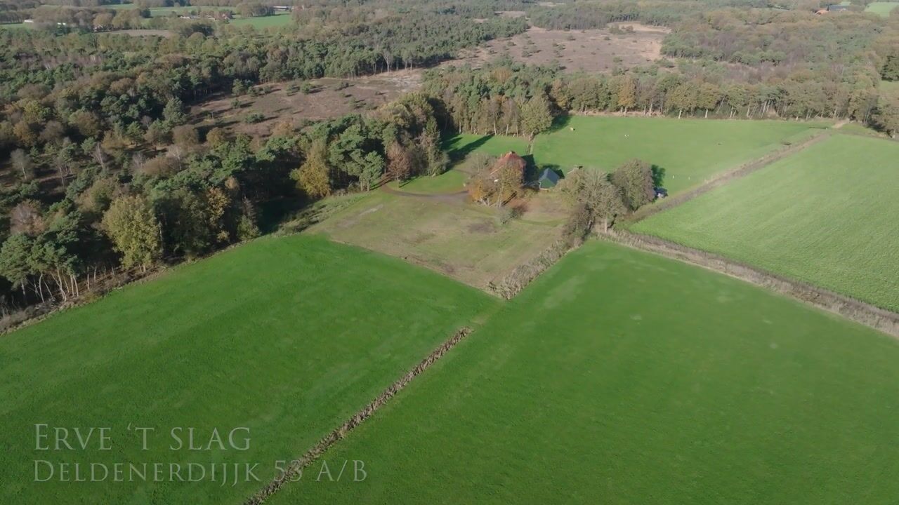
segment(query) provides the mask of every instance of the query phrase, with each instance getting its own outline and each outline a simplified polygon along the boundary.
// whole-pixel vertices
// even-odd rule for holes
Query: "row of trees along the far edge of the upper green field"
[[[654,65],[619,75],[571,75],[558,66],[498,60],[478,69],[434,70],[424,85],[444,103],[449,128],[479,134],[531,136],[548,128],[552,116],[568,111],[850,119],[899,133],[897,95],[869,73],[818,80],[814,73],[796,71],[750,84],[731,80],[718,68],[674,71]]]

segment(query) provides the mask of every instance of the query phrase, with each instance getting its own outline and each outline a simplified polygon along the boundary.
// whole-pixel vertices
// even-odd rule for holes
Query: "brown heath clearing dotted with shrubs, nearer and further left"
[[[267,93],[239,97],[240,107],[232,106],[234,96],[227,93],[191,108],[194,124],[202,128],[226,128],[232,133],[252,137],[268,137],[271,128],[280,122],[298,125],[302,120],[337,118],[353,111],[366,111],[397,96],[417,89],[421,83],[418,71],[395,71],[352,79],[325,77],[309,81],[316,86],[313,93],[302,93],[301,81],[257,86]],[[349,84],[337,89],[341,83]],[[262,114],[263,120],[247,123],[250,114]]]

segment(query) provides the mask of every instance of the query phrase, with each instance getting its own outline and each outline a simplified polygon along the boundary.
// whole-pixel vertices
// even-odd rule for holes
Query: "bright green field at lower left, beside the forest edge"
[[[240,503],[276,459],[302,454],[495,303],[404,261],[290,236],[53,316],[0,338],[0,502]],[[109,426],[112,450],[36,451],[35,423]],[[129,423],[156,428],[151,450]],[[173,427],[196,427],[203,444],[213,428],[249,427],[250,450],[170,451]],[[166,467],[164,483],[33,483],[34,459],[252,462],[263,482],[169,483]]]

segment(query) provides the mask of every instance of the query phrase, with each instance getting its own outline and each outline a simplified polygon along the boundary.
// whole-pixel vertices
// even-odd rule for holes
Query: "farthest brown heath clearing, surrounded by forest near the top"
[[[460,52],[459,57],[443,65],[485,62],[508,55],[532,65],[558,61],[569,71],[608,72],[615,66],[638,66],[661,56],[665,29],[638,23],[619,23],[634,31],[615,35],[609,30],[544,30],[531,27],[509,39],[492,40],[477,49]],[[608,39],[608,40],[607,40]]]

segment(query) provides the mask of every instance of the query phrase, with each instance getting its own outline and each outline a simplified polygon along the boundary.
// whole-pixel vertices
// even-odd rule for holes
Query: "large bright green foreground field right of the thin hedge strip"
[[[897,362],[858,324],[593,242],[325,454],[365,481],[271,502],[892,504]]]

